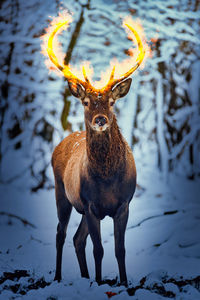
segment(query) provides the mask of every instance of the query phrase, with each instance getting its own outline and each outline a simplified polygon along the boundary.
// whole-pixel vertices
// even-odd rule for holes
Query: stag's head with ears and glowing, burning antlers
[[[71,22],[71,19],[66,19],[53,24],[53,29],[48,35],[46,50],[53,64],[63,72],[68,80],[68,85],[71,93],[76,98],[79,98],[85,111],[85,122],[92,129],[102,132],[110,127],[113,120],[113,107],[117,99],[124,97],[131,85],[131,78],[128,78],[142,63],[145,50],[138,32],[130,24],[125,22],[125,26],[134,35],[138,44],[138,55],[135,64],[126,71],[120,78],[115,78],[115,66],[112,68],[108,83],[101,89],[95,88],[89,81],[85,67],[83,67],[84,80],[75,76],[68,65],[60,64],[58,58],[53,51],[53,40],[58,30]]]

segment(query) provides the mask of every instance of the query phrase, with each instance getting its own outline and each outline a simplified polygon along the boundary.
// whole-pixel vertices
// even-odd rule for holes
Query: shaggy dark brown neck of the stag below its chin
[[[96,132],[86,125],[86,147],[89,171],[102,178],[110,178],[125,165],[126,146],[114,116],[112,125]]]

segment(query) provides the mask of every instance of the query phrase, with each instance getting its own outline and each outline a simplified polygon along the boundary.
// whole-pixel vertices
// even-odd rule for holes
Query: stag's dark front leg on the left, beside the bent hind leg
[[[102,279],[101,265],[102,265],[104,251],[101,243],[100,219],[98,219],[94,215],[90,207],[88,208],[85,214],[86,214],[89,234],[93,242],[96,282],[101,283],[101,279]]]

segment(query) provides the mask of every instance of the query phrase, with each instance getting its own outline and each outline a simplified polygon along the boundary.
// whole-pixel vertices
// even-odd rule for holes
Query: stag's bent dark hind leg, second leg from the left
[[[88,236],[88,225],[85,215],[82,216],[81,223],[74,235],[74,247],[76,249],[76,255],[79,262],[81,276],[89,278],[87,261],[85,256],[86,240]]]

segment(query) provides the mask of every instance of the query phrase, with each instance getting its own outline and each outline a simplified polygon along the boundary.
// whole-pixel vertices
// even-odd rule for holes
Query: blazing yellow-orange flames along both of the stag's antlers
[[[46,30],[46,34],[43,36],[43,53],[48,55],[53,65],[63,72],[68,81],[72,81],[75,84],[80,83],[85,87],[85,89],[95,89],[103,92],[112,88],[120,81],[123,81],[125,78],[129,77],[141,65],[141,63],[144,61],[144,57],[150,52],[149,46],[145,41],[144,31],[140,22],[134,22],[131,17],[126,17],[123,20],[123,27],[125,27],[128,32],[128,38],[132,41],[136,41],[138,45],[137,58],[134,59],[135,49],[129,49],[128,53],[131,54],[131,56],[122,63],[113,60],[110,63],[109,70],[101,74],[101,80],[94,82],[93,87],[88,78],[89,76],[91,77],[93,71],[93,69],[90,67],[90,63],[85,62],[82,65],[81,74],[80,71],[75,70],[70,65],[65,65],[63,63],[64,56],[61,52],[59,52],[60,45],[56,39],[56,34],[61,33],[62,30],[66,29],[71,22],[72,17],[66,12],[59,14],[58,17],[53,19],[50,26]],[[58,59],[62,61],[60,62]],[[131,69],[130,65],[133,65]],[[52,69],[52,66],[50,69]],[[76,76],[75,74],[78,75]],[[107,80],[107,84],[105,84],[105,80]]]

